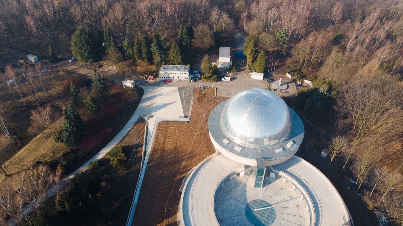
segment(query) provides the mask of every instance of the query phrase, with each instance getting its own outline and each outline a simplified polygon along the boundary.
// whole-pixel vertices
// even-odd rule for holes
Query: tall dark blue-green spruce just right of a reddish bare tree
[[[84,120],[80,114],[69,105],[64,110],[62,137],[68,147],[76,147],[84,133]]]

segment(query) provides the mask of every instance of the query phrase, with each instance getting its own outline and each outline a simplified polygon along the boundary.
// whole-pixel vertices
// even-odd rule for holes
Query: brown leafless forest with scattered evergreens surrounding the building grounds
[[[72,140],[63,146],[66,151],[70,147],[92,148],[78,141],[83,129],[79,135],[69,135],[69,126],[64,125],[68,123],[65,117],[70,115],[66,109],[78,113],[67,104],[53,106],[62,95],[81,109],[85,123],[93,124],[100,120],[96,117],[104,112],[102,109],[112,115],[119,111],[112,109],[116,102],[122,99],[129,103],[136,98],[133,91],[123,91],[99,76],[97,79],[102,81],[95,84],[102,84],[98,87],[102,98],[96,93],[96,85],[86,88],[94,81],[69,79],[62,70],[46,78],[39,64],[12,66],[27,54],[48,59],[48,65],[52,65],[60,62],[58,56],[72,53],[81,62],[107,60],[118,71],[127,73],[126,67],[131,67],[139,75],[152,74],[161,64],[193,65],[196,55],[208,54],[241,31],[250,69],[268,72],[269,60],[277,59],[278,73],[312,81],[312,88],[299,91],[292,102],[310,123],[328,131],[325,146],[329,149],[330,166],[339,164],[341,172],[355,177],[356,196],[370,211],[403,225],[403,2],[3,0],[0,4],[0,65],[4,68],[0,72],[0,174],[8,176],[5,164],[16,149],[26,145],[21,136],[28,127],[31,134],[49,133],[55,141],[63,137]],[[211,64],[208,57],[205,62]],[[204,79],[216,81],[215,70],[202,65]],[[14,81],[12,86],[7,85],[10,80]],[[55,87],[64,91],[56,91]],[[48,107],[50,103],[52,109]],[[14,123],[19,120],[17,113],[31,118],[25,129]],[[103,137],[112,126],[101,128]],[[61,133],[62,128],[66,132]],[[91,141],[98,137],[96,133],[91,136]],[[63,167],[56,164],[50,168],[63,171]],[[50,179],[44,188],[58,180],[60,175],[57,179],[54,175],[59,170],[46,171]],[[108,186],[98,177],[96,183],[93,194],[104,192],[103,187]],[[8,185],[8,189],[15,188]],[[19,200],[22,203],[33,200],[23,198]],[[2,219],[22,211],[10,209],[21,205],[6,204],[0,200],[0,224],[4,224]],[[66,217],[63,209],[60,211],[58,214]],[[22,220],[34,224],[31,217]]]

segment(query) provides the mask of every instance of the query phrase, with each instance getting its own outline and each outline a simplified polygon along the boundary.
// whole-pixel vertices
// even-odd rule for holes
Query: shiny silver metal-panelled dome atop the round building
[[[220,126],[240,145],[267,148],[284,142],[291,133],[291,116],[281,97],[267,89],[247,89],[225,104]]]

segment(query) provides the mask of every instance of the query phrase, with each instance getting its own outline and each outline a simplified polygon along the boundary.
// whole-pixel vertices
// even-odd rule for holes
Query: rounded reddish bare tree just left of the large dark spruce
[[[31,126],[33,131],[39,132],[49,130],[50,134],[53,135],[52,126],[54,122],[57,122],[61,117],[58,112],[55,112],[50,105],[39,106],[35,110],[31,110]]]

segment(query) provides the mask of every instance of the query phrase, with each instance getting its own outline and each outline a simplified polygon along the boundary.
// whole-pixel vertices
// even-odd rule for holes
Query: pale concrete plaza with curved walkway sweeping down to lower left
[[[83,164],[80,168],[74,171],[72,174],[64,178],[64,180],[70,180],[79,172],[85,170],[89,163],[102,159],[112,147],[116,146],[123,137],[130,131],[131,127],[135,124],[139,116],[143,114],[150,114],[151,118],[147,120],[150,132],[153,133],[154,125],[158,117],[162,118],[185,118],[181,105],[181,99],[177,87],[157,87],[157,86],[143,86],[144,94],[140,101],[139,106],[131,116],[130,120],[123,127],[123,129],[108,143],[100,152],[92,157],[88,162]],[[134,185],[133,185],[134,186]],[[56,193],[56,189],[52,188],[48,191],[48,196],[51,197]],[[24,214],[30,214],[32,208],[30,206],[25,207]],[[10,219],[8,225],[14,226],[17,224],[15,219]]]

